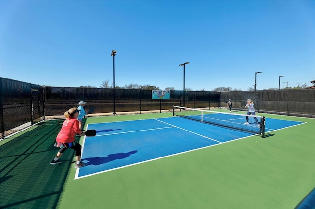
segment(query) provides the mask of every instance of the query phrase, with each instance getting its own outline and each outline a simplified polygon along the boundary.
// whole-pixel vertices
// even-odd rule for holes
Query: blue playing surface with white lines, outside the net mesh
[[[303,123],[267,118],[265,131]],[[87,129],[97,133],[84,138],[81,157],[88,165],[76,170],[75,179],[253,135],[181,117],[88,124]]]

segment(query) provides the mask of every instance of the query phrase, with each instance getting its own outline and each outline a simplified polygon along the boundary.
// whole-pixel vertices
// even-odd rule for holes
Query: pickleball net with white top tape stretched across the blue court
[[[209,123],[265,137],[265,117],[173,106],[173,116]],[[248,123],[246,118],[248,117]]]

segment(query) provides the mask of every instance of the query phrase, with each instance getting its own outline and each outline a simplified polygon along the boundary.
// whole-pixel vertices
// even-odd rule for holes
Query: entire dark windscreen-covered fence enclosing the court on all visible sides
[[[170,91],[170,99],[152,99],[151,90],[112,88],[51,87],[0,79],[0,138],[31,126],[41,120],[60,118],[79,101],[86,101],[86,110],[95,108],[92,116],[141,114],[171,111],[173,105],[190,108],[226,108],[246,110],[246,99],[252,99],[258,112],[315,118],[315,90],[266,91]],[[115,97],[114,97],[115,95]],[[185,97],[185,98],[184,98]],[[115,99],[114,99],[115,98]],[[114,105],[115,104],[115,105]],[[103,114],[105,113],[105,114]]]

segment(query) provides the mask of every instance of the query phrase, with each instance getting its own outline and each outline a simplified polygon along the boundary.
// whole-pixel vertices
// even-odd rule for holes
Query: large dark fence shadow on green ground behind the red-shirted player
[[[5,139],[0,153],[1,209],[56,208],[74,157],[68,150],[61,157],[63,163],[50,165],[59,150],[53,144],[62,124],[63,120],[42,122]]]

